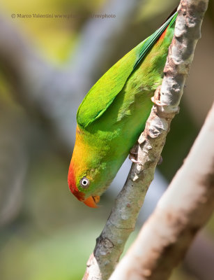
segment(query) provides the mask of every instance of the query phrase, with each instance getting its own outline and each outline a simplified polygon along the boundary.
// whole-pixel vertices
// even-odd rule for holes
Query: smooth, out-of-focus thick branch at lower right
[[[110,277],[168,279],[214,209],[214,104],[197,140],[135,243]]]

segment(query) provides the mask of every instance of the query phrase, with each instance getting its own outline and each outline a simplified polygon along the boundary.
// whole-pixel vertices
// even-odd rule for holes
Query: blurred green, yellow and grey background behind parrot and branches
[[[67,173],[75,113],[91,85],[155,31],[178,1],[0,3],[0,277],[82,279],[115,195],[107,192],[102,207],[89,209],[70,194]],[[72,14],[72,18],[33,18],[38,13]],[[94,17],[105,13],[115,18]],[[159,170],[168,182],[182,165],[213,102],[213,18],[211,2],[181,111],[162,153]],[[213,279],[213,228],[210,221],[171,280]]]

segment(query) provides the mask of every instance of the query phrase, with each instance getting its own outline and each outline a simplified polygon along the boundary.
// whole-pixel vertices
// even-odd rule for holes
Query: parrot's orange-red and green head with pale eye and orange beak
[[[68,186],[79,201],[97,208],[108,179],[105,166],[100,164],[99,158],[102,155],[85,140],[84,134],[77,127],[75,148],[68,171]]]

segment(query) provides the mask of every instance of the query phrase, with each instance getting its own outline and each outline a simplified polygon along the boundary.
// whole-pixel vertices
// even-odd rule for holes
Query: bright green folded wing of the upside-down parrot
[[[85,128],[97,120],[102,113],[112,104],[115,97],[121,92],[126,80],[146,54],[151,50],[154,43],[165,31],[168,25],[176,20],[177,13],[174,13],[158,30],[146,38],[137,47],[133,48],[127,55],[116,62],[98,80],[80,104],[77,111],[77,124]]]

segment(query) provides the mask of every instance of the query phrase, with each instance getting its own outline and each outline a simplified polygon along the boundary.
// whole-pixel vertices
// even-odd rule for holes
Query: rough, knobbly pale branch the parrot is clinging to
[[[108,279],[119,261],[125,241],[135,228],[148,186],[153,180],[172,118],[188,76],[208,0],[181,0],[174,38],[169,47],[162,86],[153,97],[154,106],[139,137],[138,161],[133,164],[123,190],[116,198],[105,228],[87,262],[84,280]],[[119,277],[118,279],[123,279]]]

